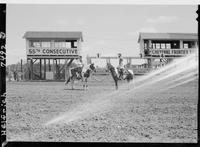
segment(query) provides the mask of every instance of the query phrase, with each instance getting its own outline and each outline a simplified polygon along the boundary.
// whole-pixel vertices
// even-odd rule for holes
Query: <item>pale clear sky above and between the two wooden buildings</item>
[[[196,11],[197,5],[8,4],[6,64],[26,59],[26,31],[81,31],[83,58],[139,56],[139,32],[197,33]]]

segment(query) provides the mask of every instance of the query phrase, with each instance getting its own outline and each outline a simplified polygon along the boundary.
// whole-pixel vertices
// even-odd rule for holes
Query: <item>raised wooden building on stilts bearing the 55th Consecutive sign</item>
[[[82,32],[28,31],[23,38],[26,39],[30,80],[36,78],[59,80],[60,71],[66,69],[74,59],[81,57]],[[36,61],[39,61],[37,64],[39,65],[39,71],[34,70]],[[62,62],[63,64],[61,64]]]

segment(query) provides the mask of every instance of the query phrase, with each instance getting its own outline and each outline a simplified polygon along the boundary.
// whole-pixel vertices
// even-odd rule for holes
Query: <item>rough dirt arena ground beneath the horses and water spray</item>
[[[115,91],[111,77],[97,78],[87,91],[80,83],[70,90],[62,82],[7,82],[7,140],[197,142],[197,80],[165,91],[159,91],[159,84],[128,95],[124,89],[121,96],[109,97]],[[76,115],[83,105],[83,113]],[[71,110],[65,119],[73,121],[45,125]]]

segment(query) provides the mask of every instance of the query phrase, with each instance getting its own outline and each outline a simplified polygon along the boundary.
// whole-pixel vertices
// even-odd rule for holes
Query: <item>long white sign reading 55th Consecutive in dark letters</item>
[[[77,48],[29,48],[27,55],[78,55]]]

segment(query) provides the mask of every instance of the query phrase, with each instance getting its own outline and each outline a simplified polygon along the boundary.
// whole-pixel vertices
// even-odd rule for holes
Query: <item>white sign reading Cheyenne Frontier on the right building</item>
[[[196,48],[193,49],[150,49],[150,55],[187,55],[194,53]]]

